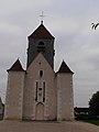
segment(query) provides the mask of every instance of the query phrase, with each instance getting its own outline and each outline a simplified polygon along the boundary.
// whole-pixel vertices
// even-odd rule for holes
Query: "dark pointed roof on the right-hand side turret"
[[[61,65],[61,67],[59,67],[57,73],[68,73],[68,74],[70,73],[70,74],[74,74],[70,70],[70,68],[66,65],[66,63],[64,61],[62,62],[62,65]]]

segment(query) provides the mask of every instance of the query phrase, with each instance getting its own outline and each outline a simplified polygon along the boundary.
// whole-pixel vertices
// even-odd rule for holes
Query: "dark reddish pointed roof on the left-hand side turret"
[[[20,61],[18,59],[12,66],[10,69],[8,69],[8,72],[24,72],[24,69],[22,68],[22,65],[20,63]]]

